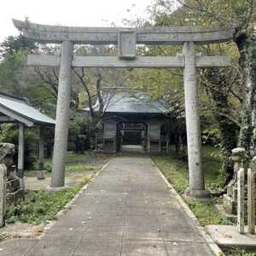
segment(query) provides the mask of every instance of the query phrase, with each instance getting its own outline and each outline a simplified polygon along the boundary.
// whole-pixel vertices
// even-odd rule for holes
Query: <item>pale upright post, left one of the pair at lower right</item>
[[[244,233],[244,168],[237,173],[237,231]]]

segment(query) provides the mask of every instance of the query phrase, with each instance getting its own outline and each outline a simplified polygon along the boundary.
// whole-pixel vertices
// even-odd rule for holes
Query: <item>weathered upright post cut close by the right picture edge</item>
[[[251,168],[247,172],[247,222],[249,234],[255,234],[255,173],[256,157],[254,156]]]

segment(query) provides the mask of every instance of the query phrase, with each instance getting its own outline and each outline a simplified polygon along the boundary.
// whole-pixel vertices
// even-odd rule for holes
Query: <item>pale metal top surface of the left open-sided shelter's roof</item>
[[[36,124],[55,125],[55,120],[26,104],[25,100],[0,93],[0,107]]]

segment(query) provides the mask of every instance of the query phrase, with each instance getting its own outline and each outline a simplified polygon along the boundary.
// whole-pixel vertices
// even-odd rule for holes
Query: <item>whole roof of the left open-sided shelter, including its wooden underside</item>
[[[32,108],[26,100],[17,96],[11,96],[0,92],[0,113],[8,116],[11,120],[16,120],[27,126],[55,125],[55,119],[49,118],[38,109]]]

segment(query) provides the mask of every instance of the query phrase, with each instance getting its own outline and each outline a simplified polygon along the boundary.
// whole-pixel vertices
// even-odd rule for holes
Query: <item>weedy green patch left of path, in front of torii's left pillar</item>
[[[41,224],[46,220],[55,219],[57,212],[76,195],[84,184],[89,183],[92,176],[84,177],[83,180],[70,189],[48,192],[30,191],[26,194],[25,201],[7,206],[6,222],[15,221],[26,222],[29,224]]]

